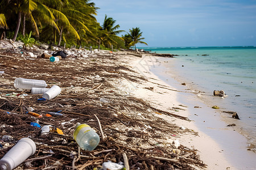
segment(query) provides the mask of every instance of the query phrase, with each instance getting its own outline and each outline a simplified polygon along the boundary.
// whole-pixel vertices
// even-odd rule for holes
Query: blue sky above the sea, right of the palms
[[[148,46],[256,46],[256,0],[92,2],[101,25],[106,14],[127,32],[139,27]]]

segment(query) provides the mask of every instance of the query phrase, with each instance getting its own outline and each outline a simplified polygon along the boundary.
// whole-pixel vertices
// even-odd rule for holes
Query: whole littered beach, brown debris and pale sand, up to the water
[[[180,85],[177,88],[171,78],[163,81],[153,74],[152,66],[160,62],[155,56],[143,54],[142,57],[137,57],[127,52],[110,53],[104,50],[95,50],[90,54],[85,51],[70,50],[67,59],[56,63],[44,58],[36,59],[28,53],[1,54],[1,70],[5,73],[0,78],[0,135],[11,135],[15,139],[1,143],[5,146],[1,156],[10,149],[7,146],[12,146],[17,139],[29,135],[40,148],[33,158],[44,156],[42,151],[49,148],[57,153],[52,155],[51,161],[46,158],[45,161],[40,160],[40,164],[31,162],[31,167],[42,169],[54,166],[56,161],[61,163],[59,168],[101,168],[101,164],[107,160],[123,162],[123,153],[127,155],[130,169],[255,168],[255,153],[247,153],[246,147],[243,146],[245,139],[233,129],[227,129],[226,124],[218,120],[213,109],[194,100],[191,93],[185,90],[185,86]],[[35,56],[40,56],[42,52],[34,53]],[[13,87],[13,81],[21,76],[44,79],[49,86],[57,84],[62,89],[61,94],[53,100],[41,103],[36,102],[40,96],[31,95],[28,90],[23,91],[27,94],[24,96],[9,95],[12,91],[20,92]],[[170,83],[175,86],[170,86]],[[55,133],[42,136],[39,128],[27,125],[27,122],[35,121],[35,118],[28,117],[21,109],[28,106],[43,115],[42,118],[36,118],[42,126],[59,127],[64,136]],[[48,111],[59,110],[64,113],[64,117],[45,116]],[[7,111],[13,113],[7,115]],[[204,112],[213,112],[213,117],[207,119],[203,116]],[[67,155],[73,151],[79,152],[76,143],[72,141],[77,121],[86,122],[101,134],[94,114],[101,121],[106,139],[102,140],[101,135],[100,145],[90,154],[82,151],[84,158],[80,157],[80,154],[75,157],[78,159],[69,158]],[[62,124],[64,122],[69,123]],[[228,142],[221,145],[214,135],[209,135],[203,126],[200,126],[206,123],[206,129],[221,131],[219,138],[230,134],[226,137],[237,143],[220,139]],[[3,130],[6,126],[10,128]],[[222,134],[225,131],[228,133]],[[240,159],[241,156],[243,159]]]

